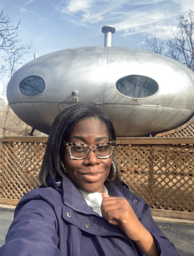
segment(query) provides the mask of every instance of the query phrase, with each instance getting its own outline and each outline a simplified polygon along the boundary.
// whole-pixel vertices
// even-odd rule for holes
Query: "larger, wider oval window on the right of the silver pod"
[[[120,78],[116,88],[121,94],[131,98],[150,97],[159,89],[157,82],[147,76],[130,75]]]

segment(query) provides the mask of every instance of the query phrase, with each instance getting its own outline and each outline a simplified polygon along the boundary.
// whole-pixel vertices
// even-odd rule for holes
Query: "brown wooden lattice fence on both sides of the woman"
[[[46,141],[47,137],[1,139],[0,203],[16,204],[39,185]],[[116,143],[121,178],[132,192],[153,211],[194,219],[194,137],[118,138]]]

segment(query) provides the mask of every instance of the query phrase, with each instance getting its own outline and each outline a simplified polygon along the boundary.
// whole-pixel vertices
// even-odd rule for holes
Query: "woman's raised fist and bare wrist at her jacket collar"
[[[133,208],[123,197],[102,194],[101,213],[111,224],[117,225],[147,256],[157,256],[154,238],[138,220]]]

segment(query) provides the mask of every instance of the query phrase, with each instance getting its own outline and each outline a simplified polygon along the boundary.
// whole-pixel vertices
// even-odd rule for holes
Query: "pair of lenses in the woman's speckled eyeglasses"
[[[72,145],[70,147],[70,153],[72,157],[75,157],[75,158],[85,157],[88,151],[89,151],[89,148],[85,146]],[[97,157],[108,157],[112,153],[112,145],[110,144],[98,145],[95,148],[95,153]]]

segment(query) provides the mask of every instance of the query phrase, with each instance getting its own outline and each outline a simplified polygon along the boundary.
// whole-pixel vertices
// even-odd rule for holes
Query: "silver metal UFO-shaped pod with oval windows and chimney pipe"
[[[57,51],[21,67],[7,86],[16,115],[48,134],[59,111],[91,102],[112,120],[119,137],[168,131],[192,117],[193,71],[163,55],[111,46],[111,25],[102,32],[105,46]]]

